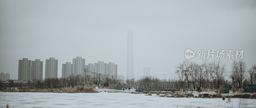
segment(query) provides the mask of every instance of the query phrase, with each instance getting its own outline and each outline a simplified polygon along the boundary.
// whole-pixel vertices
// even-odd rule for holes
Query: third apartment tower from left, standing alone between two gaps
[[[58,60],[54,57],[45,60],[45,78],[58,78]]]

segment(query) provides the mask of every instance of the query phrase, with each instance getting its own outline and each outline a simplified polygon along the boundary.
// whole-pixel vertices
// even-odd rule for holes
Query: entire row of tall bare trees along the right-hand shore
[[[185,85],[183,88],[190,89],[190,84],[204,87],[208,83],[210,84],[209,88],[218,88],[220,85],[242,87],[242,82],[246,78],[249,79],[249,84],[256,84],[256,65],[247,71],[246,63],[241,59],[233,61],[231,72],[226,71],[226,65],[221,61],[210,63],[204,61],[202,64],[184,61],[176,68],[177,81],[181,85]],[[229,75],[229,78],[225,77],[226,75]]]

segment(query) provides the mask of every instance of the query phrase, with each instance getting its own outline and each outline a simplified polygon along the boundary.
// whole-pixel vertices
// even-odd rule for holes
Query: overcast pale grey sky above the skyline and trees
[[[135,76],[143,67],[173,73],[187,48],[244,50],[247,69],[256,64],[254,0],[0,0],[0,73],[18,79],[20,59],[40,59],[44,78],[45,59],[55,57],[61,77],[62,64],[82,56],[85,64],[115,62],[125,76],[130,28]],[[230,71],[233,59],[220,60]]]

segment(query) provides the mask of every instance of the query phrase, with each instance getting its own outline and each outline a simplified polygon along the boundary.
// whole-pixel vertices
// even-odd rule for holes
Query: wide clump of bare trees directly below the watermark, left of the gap
[[[204,61],[203,64],[184,61],[176,68],[178,82],[182,85],[188,83],[185,84],[185,86],[188,85],[188,88],[190,88],[190,84],[198,84],[198,86],[202,87],[208,83],[211,87],[219,87],[225,77],[225,64],[222,64],[220,61],[213,61],[211,63]]]

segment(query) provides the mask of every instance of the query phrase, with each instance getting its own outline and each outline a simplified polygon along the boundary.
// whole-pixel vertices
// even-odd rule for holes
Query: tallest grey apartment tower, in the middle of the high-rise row
[[[73,73],[75,75],[82,75],[84,76],[84,66],[85,66],[85,59],[82,57],[73,58]]]

